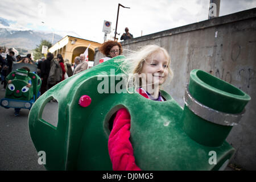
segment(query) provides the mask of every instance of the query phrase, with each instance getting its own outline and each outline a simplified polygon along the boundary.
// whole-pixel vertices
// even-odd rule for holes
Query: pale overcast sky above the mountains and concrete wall
[[[209,0],[1,0],[0,17],[12,28],[72,35],[102,43],[104,20],[112,22],[114,35],[129,27],[134,38],[208,19]],[[220,16],[256,7],[256,0],[221,0]],[[44,22],[44,23],[42,23]],[[111,34],[110,34],[111,35]]]

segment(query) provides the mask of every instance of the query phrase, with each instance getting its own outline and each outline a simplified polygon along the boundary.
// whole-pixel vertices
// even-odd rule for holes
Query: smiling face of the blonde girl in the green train
[[[142,79],[146,78],[147,85],[162,85],[168,77],[168,59],[162,51],[153,53],[144,60],[142,67]]]

